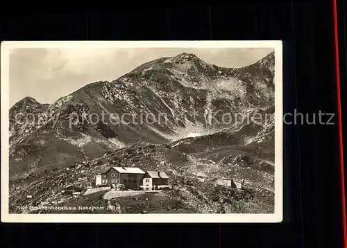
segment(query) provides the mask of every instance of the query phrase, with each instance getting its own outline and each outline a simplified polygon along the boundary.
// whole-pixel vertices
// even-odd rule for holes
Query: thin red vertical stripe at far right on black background
[[[337,116],[339,125],[339,148],[340,148],[340,168],[341,168],[341,197],[342,215],[344,225],[344,247],[347,248],[347,228],[346,228],[346,198],[345,198],[345,179],[344,179],[344,150],[342,143],[342,117],[341,117],[341,90],[340,90],[340,69],[339,69],[339,39],[337,37],[337,5],[334,0],[334,30],[335,30],[335,60],[336,60],[336,79],[337,79]]]

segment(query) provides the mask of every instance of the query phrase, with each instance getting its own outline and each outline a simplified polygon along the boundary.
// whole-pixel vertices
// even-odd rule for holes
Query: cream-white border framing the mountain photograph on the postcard
[[[275,211],[273,214],[12,214],[9,203],[9,69],[15,48],[274,48],[275,50]],[[49,223],[269,223],[283,218],[282,41],[68,41],[1,42],[1,222]]]

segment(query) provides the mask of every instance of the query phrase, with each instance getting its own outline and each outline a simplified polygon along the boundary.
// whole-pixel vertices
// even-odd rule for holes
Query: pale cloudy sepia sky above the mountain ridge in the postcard
[[[272,48],[15,48],[10,53],[10,106],[26,96],[53,103],[97,81],[112,81],[159,57],[194,53],[219,67],[245,67]]]

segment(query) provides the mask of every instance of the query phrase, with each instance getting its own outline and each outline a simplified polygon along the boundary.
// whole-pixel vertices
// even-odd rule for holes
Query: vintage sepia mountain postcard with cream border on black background
[[[281,222],[282,42],[1,43],[2,222]]]

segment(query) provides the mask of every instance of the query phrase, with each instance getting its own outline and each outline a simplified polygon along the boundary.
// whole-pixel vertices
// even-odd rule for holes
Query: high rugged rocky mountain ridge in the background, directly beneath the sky
[[[192,61],[194,61],[194,64],[189,64],[188,67],[186,63]],[[265,64],[266,67],[269,67],[271,61],[273,63],[273,53],[248,67],[251,69],[252,67],[259,67],[257,63]],[[199,67],[197,70],[195,62],[198,62]],[[171,68],[164,68],[162,67],[163,64],[164,67]],[[201,66],[201,64],[204,66]],[[273,98],[272,88],[266,87],[264,80],[254,80],[253,85],[247,85],[245,82],[237,81],[233,76],[230,76],[231,74],[223,74],[220,71],[221,67],[203,62],[196,55],[181,53],[175,57],[159,58],[144,65],[140,66],[142,67],[141,70],[135,69],[135,72],[133,70],[133,72],[126,73],[112,82],[100,81],[85,85],[72,94],[59,98],[51,105],[41,105],[33,98],[24,98],[26,99],[24,103],[31,103],[33,109],[37,109],[36,114],[44,116],[44,118],[42,123],[26,123],[20,126],[20,128],[10,123],[11,138],[13,137],[10,139],[10,150],[13,152],[11,152],[11,157],[18,160],[18,157],[21,157],[19,154],[28,154],[24,149],[26,146],[23,148],[23,145],[21,145],[22,141],[24,140],[26,143],[33,145],[33,140],[36,139],[35,136],[46,135],[47,132],[51,133],[51,137],[56,136],[58,140],[63,140],[64,142],[71,139],[83,140],[85,136],[91,136],[92,138],[87,140],[95,138],[98,142],[100,140],[103,141],[104,145],[101,145],[103,148],[100,147],[98,142],[94,143],[93,146],[96,145],[101,152],[105,152],[115,147],[120,148],[139,141],[170,143],[184,139],[185,136],[189,136],[192,133],[201,135],[223,130],[229,124],[210,123],[209,118],[211,116],[208,116],[206,113],[212,112],[213,109],[223,109],[224,112],[234,109],[233,112],[237,113],[244,111],[242,109],[249,108],[252,105],[256,107],[273,105],[271,103]],[[153,69],[153,66],[158,68]],[[206,75],[211,73],[210,69],[216,75],[209,78]],[[248,73],[239,71],[239,69],[233,70],[228,69],[228,73],[235,73],[236,71],[236,77]],[[264,70],[266,71],[266,69]],[[148,72],[146,73],[146,71]],[[136,77],[134,77],[134,74]],[[253,74],[257,76],[257,71]],[[269,76],[272,76],[271,73]],[[256,88],[254,85],[257,84],[262,85],[262,87]],[[252,91],[253,94],[247,95],[246,91]],[[259,96],[255,98],[255,94]],[[266,99],[263,99],[265,97]],[[16,106],[11,109],[14,109]],[[113,113],[119,115],[131,113],[134,116],[138,116],[140,112],[153,114],[153,116],[165,114],[167,123],[153,123],[152,125],[146,125],[146,123],[143,125],[133,125],[132,123],[130,125],[122,125],[120,123],[113,125],[110,123],[103,124],[99,121],[94,125],[90,125],[90,123],[85,121],[82,122],[83,118],[81,116],[83,114],[101,112],[105,112],[108,116]],[[78,118],[78,121],[75,120],[73,125],[71,125],[71,121],[67,123],[71,113],[77,114]],[[194,113],[197,113],[196,119],[192,118]],[[13,113],[11,112],[10,114]],[[10,119],[13,119],[12,117]],[[221,115],[217,115],[217,117],[221,118]],[[48,126],[51,125],[49,123],[52,125],[54,123],[55,130],[49,129]],[[40,131],[42,127],[46,127],[46,130]],[[70,131],[68,132],[67,130]],[[33,133],[34,135],[31,135]],[[62,137],[58,138],[61,135]],[[27,140],[25,140],[26,137],[28,138]],[[33,146],[35,147],[35,145]],[[19,153],[15,152],[16,150]],[[75,154],[73,157],[76,157],[76,152],[73,152]],[[84,156],[83,152],[77,153],[81,153],[77,157]],[[99,155],[100,152],[96,152],[95,156]],[[21,163],[23,162],[23,159],[19,160]],[[75,160],[73,159],[72,161]],[[33,167],[37,167],[37,165]]]

